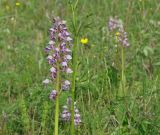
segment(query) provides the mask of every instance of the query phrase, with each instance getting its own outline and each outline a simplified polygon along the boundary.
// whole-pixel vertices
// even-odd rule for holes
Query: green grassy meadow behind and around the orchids
[[[0,134],[53,134],[52,87],[42,81],[49,65],[44,48],[54,16],[73,33],[67,0],[0,0]],[[79,0],[76,100],[81,135],[160,134],[160,1]],[[120,57],[108,30],[117,16],[128,33],[125,96]],[[72,34],[74,38],[74,35]],[[80,39],[87,37],[87,45]],[[66,102],[61,96],[60,110]],[[59,134],[70,135],[59,121]]]

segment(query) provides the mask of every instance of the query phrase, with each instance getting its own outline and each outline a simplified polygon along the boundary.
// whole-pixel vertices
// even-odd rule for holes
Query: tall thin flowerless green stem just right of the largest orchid
[[[78,0],[77,0],[78,2]],[[77,4],[76,2],[76,4]],[[78,45],[78,33],[77,33],[77,18],[75,15],[75,8],[72,8],[72,17],[73,17],[73,27],[74,27],[74,45],[73,45],[73,74],[72,74],[72,106],[71,106],[71,135],[75,135],[74,127],[74,101],[75,101],[75,83],[76,83],[76,73],[77,73],[77,45]]]

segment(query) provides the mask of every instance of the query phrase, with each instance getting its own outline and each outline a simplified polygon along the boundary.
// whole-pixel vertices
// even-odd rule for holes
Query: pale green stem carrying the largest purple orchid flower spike
[[[57,64],[56,90],[57,90],[58,95],[57,95],[57,97],[56,97],[56,110],[55,110],[55,129],[54,129],[54,135],[58,135],[59,92],[60,92],[60,70],[59,70],[59,64]]]

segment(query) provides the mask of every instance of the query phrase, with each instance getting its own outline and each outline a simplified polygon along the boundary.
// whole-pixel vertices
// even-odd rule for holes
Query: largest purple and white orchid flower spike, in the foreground
[[[51,65],[50,75],[52,81],[54,81],[57,77],[57,70],[59,70],[61,76],[72,73],[71,68],[69,68],[69,61],[72,59],[70,50],[72,47],[72,38],[67,30],[65,21],[60,20],[59,17],[54,18],[53,26],[49,32],[50,41],[45,48],[45,52],[48,54],[47,60]],[[49,79],[43,81],[45,84],[50,82],[51,80]],[[69,90],[70,84],[69,80],[61,80],[61,89]],[[49,97],[50,99],[55,99],[57,95],[57,90],[52,90]]]

